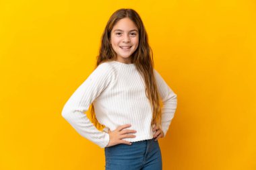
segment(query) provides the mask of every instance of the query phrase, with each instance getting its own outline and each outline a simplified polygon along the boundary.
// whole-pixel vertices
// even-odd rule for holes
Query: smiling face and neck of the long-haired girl
[[[111,30],[110,43],[117,53],[117,61],[131,63],[131,54],[139,44],[139,32],[128,17],[120,19]]]

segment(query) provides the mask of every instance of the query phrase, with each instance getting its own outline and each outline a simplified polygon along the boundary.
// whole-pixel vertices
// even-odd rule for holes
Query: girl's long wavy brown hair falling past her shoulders
[[[150,100],[153,112],[152,124],[156,124],[158,128],[162,129],[162,111],[160,106],[160,96],[158,93],[156,79],[154,77],[153,71],[153,52],[150,48],[150,45],[148,44],[148,34],[145,27],[143,26],[141,17],[135,10],[119,9],[110,16],[110,19],[106,24],[106,28],[104,29],[104,32],[102,34],[100,52],[97,56],[96,67],[98,67],[98,65],[100,65],[102,62],[108,62],[110,60],[117,59],[117,54],[110,44],[110,36],[115,24],[117,24],[120,19],[123,19],[125,17],[129,17],[129,19],[134,22],[135,26],[137,26],[137,29],[139,31],[139,45],[135,52],[131,54],[131,62],[135,64],[137,71],[139,71],[139,73],[142,75],[144,83],[146,85],[146,96]],[[93,104],[90,109],[90,115],[92,118],[92,122],[97,128],[104,127],[96,119]]]

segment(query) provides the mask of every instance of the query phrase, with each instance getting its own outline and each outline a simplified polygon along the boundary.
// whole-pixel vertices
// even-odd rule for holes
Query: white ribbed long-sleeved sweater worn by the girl
[[[163,101],[162,130],[164,135],[177,108],[177,95],[154,69],[156,83]],[[152,109],[146,97],[146,86],[134,64],[118,61],[104,62],[80,85],[68,99],[61,115],[75,130],[88,140],[106,147],[109,142],[107,129],[131,124],[126,129],[136,130],[135,138],[123,138],[129,142],[153,138]],[[94,103],[96,118],[106,126],[98,130],[88,119],[86,112]]]

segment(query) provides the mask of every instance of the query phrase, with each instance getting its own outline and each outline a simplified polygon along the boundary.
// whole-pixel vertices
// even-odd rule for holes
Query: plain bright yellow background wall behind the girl
[[[178,95],[164,169],[256,169],[254,0],[0,1],[0,169],[104,169],[104,149],[61,110],[119,8],[141,15]]]

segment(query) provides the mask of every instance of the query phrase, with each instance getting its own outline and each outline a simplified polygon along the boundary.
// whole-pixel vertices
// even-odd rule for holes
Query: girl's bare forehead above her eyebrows
[[[130,31],[130,30],[137,30],[137,27],[135,26],[134,22],[129,19],[129,17],[125,17],[123,19],[120,19],[115,26],[112,29],[115,30],[122,30],[122,31]]]

